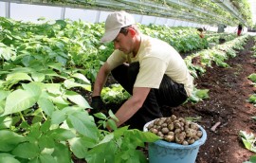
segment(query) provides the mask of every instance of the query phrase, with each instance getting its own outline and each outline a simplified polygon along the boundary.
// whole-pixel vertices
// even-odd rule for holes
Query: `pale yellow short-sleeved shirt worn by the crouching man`
[[[183,83],[188,96],[192,94],[193,79],[186,63],[173,46],[161,40],[142,35],[135,58],[132,54],[115,50],[107,59],[111,69],[125,62],[139,62],[140,67],[134,87],[158,89],[163,75],[166,74],[173,81]]]

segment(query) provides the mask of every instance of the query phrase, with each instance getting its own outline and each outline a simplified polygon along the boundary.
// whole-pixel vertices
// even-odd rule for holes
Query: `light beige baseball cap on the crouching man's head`
[[[101,43],[112,42],[119,34],[121,27],[134,25],[133,16],[123,10],[110,13],[105,22],[105,33],[101,38]]]

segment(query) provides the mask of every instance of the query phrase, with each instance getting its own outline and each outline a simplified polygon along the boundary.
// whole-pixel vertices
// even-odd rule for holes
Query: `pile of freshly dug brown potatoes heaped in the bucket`
[[[196,123],[174,115],[170,118],[156,118],[147,128],[168,142],[182,145],[190,145],[203,136]]]

